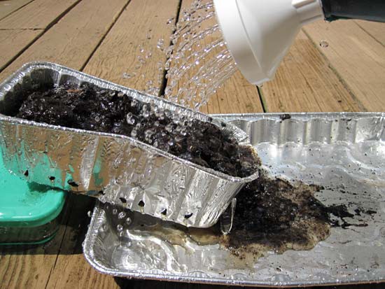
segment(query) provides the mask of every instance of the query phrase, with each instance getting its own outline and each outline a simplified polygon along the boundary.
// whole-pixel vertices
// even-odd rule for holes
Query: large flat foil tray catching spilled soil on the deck
[[[384,116],[218,115],[249,134],[272,176],[323,185],[316,197],[324,204],[349,202],[377,211],[363,217],[367,227],[333,227],[310,251],[271,252],[250,263],[218,244],[200,246],[177,231],[163,234],[167,223],[155,218],[130,213],[119,227],[123,216],[98,204],[83,244],[85,258],[99,272],[138,279],[278,287],[384,281]],[[148,230],[139,230],[143,224]]]

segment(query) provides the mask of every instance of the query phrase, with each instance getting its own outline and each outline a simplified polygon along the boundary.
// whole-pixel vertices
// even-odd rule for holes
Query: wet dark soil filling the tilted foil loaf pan
[[[39,87],[25,93],[15,115],[25,120],[131,136],[202,167],[244,178],[258,169],[255,154],[231,136],[223,123],[188,119],[123,92],[90,83]]]

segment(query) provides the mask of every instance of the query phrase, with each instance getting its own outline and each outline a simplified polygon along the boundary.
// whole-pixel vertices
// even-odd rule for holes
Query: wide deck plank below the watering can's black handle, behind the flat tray
[[[385,47],[354,21],[316,22],[304,28],[367,111],[385,109]]]

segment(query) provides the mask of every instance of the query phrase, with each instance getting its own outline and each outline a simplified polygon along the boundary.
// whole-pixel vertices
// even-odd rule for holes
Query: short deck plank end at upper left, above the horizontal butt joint
[[[0,29],[45,29],[80,0],[35,0],[0,21]]]

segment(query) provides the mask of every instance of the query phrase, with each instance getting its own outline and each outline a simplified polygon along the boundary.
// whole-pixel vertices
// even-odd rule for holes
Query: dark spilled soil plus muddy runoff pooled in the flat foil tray
[[[311,250],[329,237],[331,227],[349,227],[346,218],[356,220],[363,213],[375,213],[357,209],[352,213],[340,204],[325,206],[314,197],[322,189],[270,178],[261,170],[260,178],[248,183],[237,195],[234,223],[228,235],[221,233],[218,224],[209,229],[186,228],[139,213],[134,213],[131,230],[148,232],[179,246],[186,244],[187,239],[202,246],[220,244],[236,260],[253,264],[269,251],[280,254],[290,249]],[[112,225],[116,227],[117,223]]]

